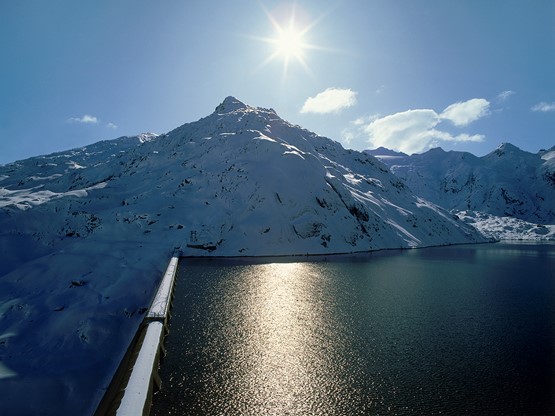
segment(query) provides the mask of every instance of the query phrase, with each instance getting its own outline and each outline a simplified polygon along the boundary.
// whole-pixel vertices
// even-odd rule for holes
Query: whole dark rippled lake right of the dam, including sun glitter
[[[555,414],[555,245],[317,260],[183,260],[152,414]]]

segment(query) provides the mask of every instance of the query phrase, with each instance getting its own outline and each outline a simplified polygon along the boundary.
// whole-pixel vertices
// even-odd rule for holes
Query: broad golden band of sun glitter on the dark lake
[[[353,394],[341,328],[313,263],[248,266],[226,285],[227,351],[219,408],[238,414],[334,414]],[[224,381],[224,385],[222,385]],[[341,398],[339,401],[338,399]],[[353,398],[354,399],[354,398]],[[335,410],[334,410],[335,409]]]

